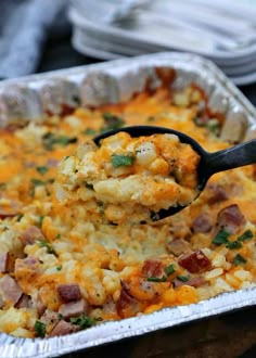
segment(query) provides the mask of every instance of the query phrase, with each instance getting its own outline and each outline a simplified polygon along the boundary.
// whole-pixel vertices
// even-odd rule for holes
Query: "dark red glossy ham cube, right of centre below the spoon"
[[[181,256],[178,263],[191,273],[206,271],[212,266],[210,260],[201,250]]]

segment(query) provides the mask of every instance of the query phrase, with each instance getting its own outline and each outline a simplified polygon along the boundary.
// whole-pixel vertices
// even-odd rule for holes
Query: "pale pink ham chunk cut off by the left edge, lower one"
[[[0,293],[3,302],[11,302],[15,305],[21,298],[23,292],[16,281],[9,274],[0,279]]]

